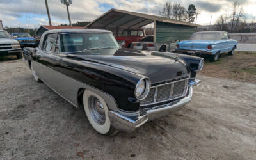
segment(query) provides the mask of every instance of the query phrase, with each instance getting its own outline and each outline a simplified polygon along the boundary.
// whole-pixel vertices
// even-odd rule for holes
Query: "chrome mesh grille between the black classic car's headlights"
[[[147,106],[168,100],[178,99],[186,94],[188,88],[188,79],[174,81],[172,83],[153,86],[148,96],[140,100],[140,106]]]

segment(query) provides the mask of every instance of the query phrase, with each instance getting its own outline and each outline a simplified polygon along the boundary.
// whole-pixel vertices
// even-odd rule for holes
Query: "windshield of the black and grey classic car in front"
[[[67,33],[61,35],[60,52],[88,52],[118,48],[112,33]]]

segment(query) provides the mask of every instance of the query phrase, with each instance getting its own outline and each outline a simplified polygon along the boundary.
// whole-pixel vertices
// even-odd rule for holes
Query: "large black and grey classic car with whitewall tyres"
[[[77,108],[100,134],[134,131],[190,102],[204,59],[122,49],[110,31],[56,29],[23,60],[36,81]]]

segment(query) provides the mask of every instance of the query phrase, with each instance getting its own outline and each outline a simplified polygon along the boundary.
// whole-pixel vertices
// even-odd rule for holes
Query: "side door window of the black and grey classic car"
[[[49,34],[45,36],[44,50],[48,52],[55,52],[57,44],[57,34]]]

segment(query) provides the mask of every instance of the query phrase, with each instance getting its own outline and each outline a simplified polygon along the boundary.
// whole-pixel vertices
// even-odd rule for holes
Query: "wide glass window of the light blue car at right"
[[[195,33],[190,40],[220,40],[220,33]]]

